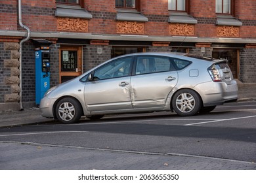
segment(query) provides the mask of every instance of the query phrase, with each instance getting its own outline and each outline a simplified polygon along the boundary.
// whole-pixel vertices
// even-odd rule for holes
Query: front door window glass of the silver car
[[[97,80],[129,76],[133,57],[121,58],[111,61],[95,70]]]

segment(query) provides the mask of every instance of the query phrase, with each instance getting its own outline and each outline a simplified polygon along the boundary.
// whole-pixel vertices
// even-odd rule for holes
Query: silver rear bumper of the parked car
[[[238,86],[235,80],[225,82],[206,82],[198,84],[194,90],[200,93],[203,106],[222,105],[238,99]]]

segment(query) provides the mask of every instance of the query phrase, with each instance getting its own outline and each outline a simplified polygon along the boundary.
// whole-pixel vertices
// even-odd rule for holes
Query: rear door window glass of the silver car
[[[171,64],[169,58],[158,56],[139,56],[135,75],[146,73],[159,73],[165,71],[174,71],[175,68]]]

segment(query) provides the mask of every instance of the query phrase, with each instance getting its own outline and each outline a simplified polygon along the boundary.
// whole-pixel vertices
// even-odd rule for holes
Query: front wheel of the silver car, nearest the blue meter
[[[73,124],[81,118],[82,108],[76,99],[66,97],[58,101],[55,112],[60,122],[63,124]]]

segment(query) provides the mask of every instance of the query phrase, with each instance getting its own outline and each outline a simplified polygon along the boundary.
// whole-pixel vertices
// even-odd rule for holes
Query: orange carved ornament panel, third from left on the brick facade
[[[170,24],[170,35],[194,35],[193,24]]]

